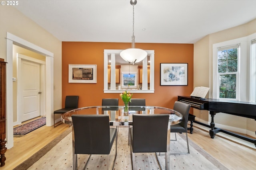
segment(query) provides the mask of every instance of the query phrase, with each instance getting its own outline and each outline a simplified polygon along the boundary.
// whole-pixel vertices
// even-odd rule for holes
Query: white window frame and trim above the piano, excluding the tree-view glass
[[[256,33],[253,33],[246,37],[213,44],[212,98],[219,98],[218,47],[240,44],[236,100],[256,102],[256,47],[252,45],[255,40]]]

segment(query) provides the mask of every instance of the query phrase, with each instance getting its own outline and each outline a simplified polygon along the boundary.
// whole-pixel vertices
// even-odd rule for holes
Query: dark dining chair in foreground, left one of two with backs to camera
[[[77,170],[77,154],[110,154],[117,135],[116,129],[110,128],[108,115],[72,115],[73,121],[73,169]],[[89,161],[88,158],[84,169]],[[114,169],[116,155],[112,170]],[[107,158],[108,168],[108,158]]]

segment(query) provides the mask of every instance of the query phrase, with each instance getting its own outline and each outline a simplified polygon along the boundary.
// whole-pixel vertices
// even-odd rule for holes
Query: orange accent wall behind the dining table
[[[104,94],[104,49],[127,49],[131,43],[62,42],[62,106],[65,96],[78,95],[78,107],[100,106],[102,98],[119,98],[119,94]],[[154,86],[150,94],[133,94],[145,98],[148,106],[173,108],[178,95],[193,91],[193,44],[136,43],[136,48],[154,50]],[[188,86],[160,86],[160,63],[188,63]],[[97,83],[68,83],[68,64],[97,64]]]

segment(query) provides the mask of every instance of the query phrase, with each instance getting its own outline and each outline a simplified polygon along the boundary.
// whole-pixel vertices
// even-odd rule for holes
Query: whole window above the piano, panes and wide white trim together
[[[212,49],[212,98],[256,102],[256,33]]]

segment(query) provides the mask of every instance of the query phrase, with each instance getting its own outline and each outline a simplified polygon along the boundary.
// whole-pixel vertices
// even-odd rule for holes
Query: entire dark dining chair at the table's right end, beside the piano
[[[178,102],[176,101],[174,103],[174,107],[173,109],[180,112],[182,114],[182,121],[179,124],[176,125],[171,125],[170,127],[170,131],[171,133],[175,133],[175,141],[176,139],[176,133],[186,133],[186,139],[187,139],[187,148],[188,148],[188,152],[185,153],[171,153],[172,155],[174,154],[189,154],[189,146],[188,146],[188,129],[187,129],[187,125],[188,125],[188,114],[189,114],[189,109],[190,109],[189,104],[183,103],[183,102]]]

